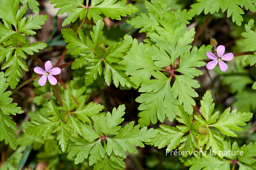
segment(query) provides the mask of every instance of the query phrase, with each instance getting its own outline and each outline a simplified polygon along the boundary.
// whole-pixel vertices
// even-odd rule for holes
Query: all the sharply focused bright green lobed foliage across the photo
[[[20,2],[24,6],[19,10],[19,0],[2,0],[0,4],[0,18],[3,22],[0,23],[0,62],[5,60],[1,70],[6,69],[0,73],[0,140],[4,140],[5,144],[9,143],[14,150],[17,144],[13,136],[16,135],[14,130],[17,131],[17,128],[8,115],[21,114],[23,110],[17,107],[16,103],[11,103],[11,92],[6,89],[8,86],[14,89],[20,77],[22,78],[22,70],[28,71],[27,64],[23,61],[26,54],[32,55],[47,46],[43,42],[30,44],[26,40],[27,35],[36,34],[33,30],[40,29],[47,16],[23,17],[27,3],[36,13],[39,8],[35,0]],[[138,44],[136,39],[125,35],[122,42],[105,47],[101,38],[104,26],[102,16],[120,20],[121,16],[137,12],[135,6],[126,4],[126,0],[92,0],[90,6],[84,6],[83,0],[52,0],[51,4],[55,4],[55,8],[60,8],[57,14],[69,13],[62,26],[85,17],[95,23],[90,35],[84,35],[80,28],[78,36],[71,28],[61,30],[65,42],[68,43],[66,48],[73,49],[71,55],[79,54],[71,68],[75,70],[90,63],[84,76],[85,86],[93,83],[98,74],[104,74],[108,86],[113,80],[114,85],[120,86],[121,89],[138,89],[142,93],[136,99],[136,102],[141,103],[138,108],[141,111],[138,114],[139,125],[134,126],[134,122],[130,122],[123,128],[119,126],[124,121],[124,105],[114,108],[112,113],[108,112],[106,116],[101,116],[99,121],[92,125],[88,117],[97,115],[104,106],[95,103],[85,105],[84,99],[77,106],[72,103],[72,92],[68,88],[63,100],[64,106],[57,107],[53,100],[50,100],[47,105],[50,116],[38,113],[40,121],[32,120],[26,133],[47,140],[51,133],[57,132],[56,142],[53,144],[55,149],[60,153],[68,153],[68,158],[75,157],[75,164],[82,163],[88,158],[89,165],[93,165],[97,170],[125,168],[125,152],[137,153],[134,145],[144,147],[142,142],[157,146],[159,149],[167,146],[172,150],[178,146],[180,151],[191,152],[195,151],[195,148],[200,151],[208,151],[211,148],[217,153],[216,156],[181,158],[186,166],[192,165],[191,169],[229,169],[230,161],[226,158],[235,157],[223,156],[219,151],[224,151],[224,148],[241,150],[244,151],[244,155],[238,156],[237,160],[240,169],[255,169],[255,159],[251,158],[256,156],[255,144],[238,147],[234,142],[231,148],[229,138],[223,138],[223,135],[235,137],[234,131],[242,130],[239,126],[245,126],[245,122],[252,118],[252,113],[231,111],[230,108],[222,114],[213,113],[213,99],[210,91],[207,91],[201,100],[202,115],[193,115],[193,106],[196,105],[194,98],[198,97],[194,88],[200,87],[194,77],[202,74],[197,67],[206,65],[202,60],[207,58],[206,52],[211,51],[212,46],[192,48],[189,44],[194,40],[195,29],[186,30],[186,24],[189,24],[189,20],[195,15],[202,11],[205,14],[213,14],[220,9],[222,12],[227,11],[227,17],[232,15],[232,21],[240,26],[244,14],[241,8],[245,7],[246,10],[255,12],[255,3],[252,0],[198,0],[198,3],[191,5],[189,11],[178,9],[174,12],[168,8],[170,1],[145,1],[148,14],[141,13],[141,16],[130,18],[127,22],[135,28],[140,28],[139,32],[146,32],[146,43]],[[246,32],[242,34],[247,38],[244,40],[247,44],[245,48],[250,51],[256,51],[256,34],[251,30],[253,23],[254,20],[250,20],[245,25]],[[175,68],[174,62],[178,57],[180,64]],[[245,62],[251,66],[255,65],[256,53]],[[163,73],[166,71],[164,67],[168,65],[173,68],[170,76]],[[174,74],[174,71],[179,73]],[[175,79],[174,83],[171,83],[172,79]],[[256,89],[255,84],[253,89]],[[72,112],[74,115],[70,114],[72,110],[75,110]],[[166,117],[170,122],[176,119],[183,125],[147,128],[150,123],[163,123]]]

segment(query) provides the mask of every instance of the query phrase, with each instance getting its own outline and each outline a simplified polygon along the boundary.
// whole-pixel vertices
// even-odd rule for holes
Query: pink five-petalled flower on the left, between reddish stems
[[[61,69],[59,67],[52,68],[52,62],[51,61],[46,61],[44,64],[45,71],[40,68],[40,67],[35,67],[34,72],[37,74],[42,74],[43,76],[38,80],[38,84],[40,86],[44,86],[48,77],[49,82],[52,85],[56,85],[58,82],[55,77],[52,75],[58,75],[61,72]]]

